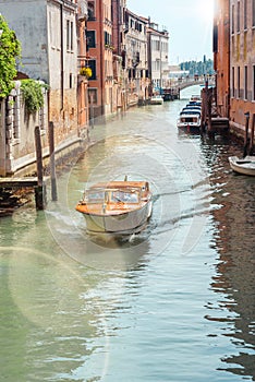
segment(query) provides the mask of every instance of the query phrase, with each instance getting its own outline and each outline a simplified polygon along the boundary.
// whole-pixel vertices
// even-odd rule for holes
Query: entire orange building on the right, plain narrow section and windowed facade
[[[255,114],[255,0],[217,0],[214,26],[218,112],[243,135]]]

